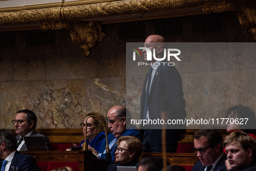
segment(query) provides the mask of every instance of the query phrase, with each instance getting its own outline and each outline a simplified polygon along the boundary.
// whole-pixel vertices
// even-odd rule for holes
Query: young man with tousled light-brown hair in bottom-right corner
[[[227,171],[256,171],[256,142],[250,135],[233,132],[222,144],[227,153]]]

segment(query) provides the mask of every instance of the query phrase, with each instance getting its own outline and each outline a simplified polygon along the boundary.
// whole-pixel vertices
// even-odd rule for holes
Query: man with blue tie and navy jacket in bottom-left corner
[[[10,129],[0,129],[0,166],[4,171],[39,171],[36,161],[30,155],[16,150],[17,142]]]

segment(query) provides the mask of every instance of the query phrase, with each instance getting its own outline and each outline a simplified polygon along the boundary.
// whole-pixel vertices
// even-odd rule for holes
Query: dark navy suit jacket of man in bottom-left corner
[[[2,165],[3,161],[0,161],[0,165]],[[30,155],[24,155],[15,152],[13,156],[13,160],[11,162],[9,171],[39,171],[36,165],[36,161]]]

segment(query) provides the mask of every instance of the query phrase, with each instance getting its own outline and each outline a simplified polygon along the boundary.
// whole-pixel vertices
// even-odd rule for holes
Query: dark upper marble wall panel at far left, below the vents
[[[1,51],[0,81],[31,81],[44,79],[44,49]]]

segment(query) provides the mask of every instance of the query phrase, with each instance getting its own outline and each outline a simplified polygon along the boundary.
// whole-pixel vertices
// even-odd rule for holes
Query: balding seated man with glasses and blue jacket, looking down
[[[109,122],[108,127],[110,132],[107,135],[107,141],[110,148],[111,163],[115,160],[115,148],[117,147],[117,140],[121,136],[136,136],[139,138],[139,130],[136,126],[131,125],[131,115],[129,110],[126,110],[124,106],[113,106],[107,113],[105,121]],[[126,129],[127,125],[127,129]],[[106,158],[106,141],[102,142],[100,150],[97,152],[94,148],[88,148],[98,158]]]

